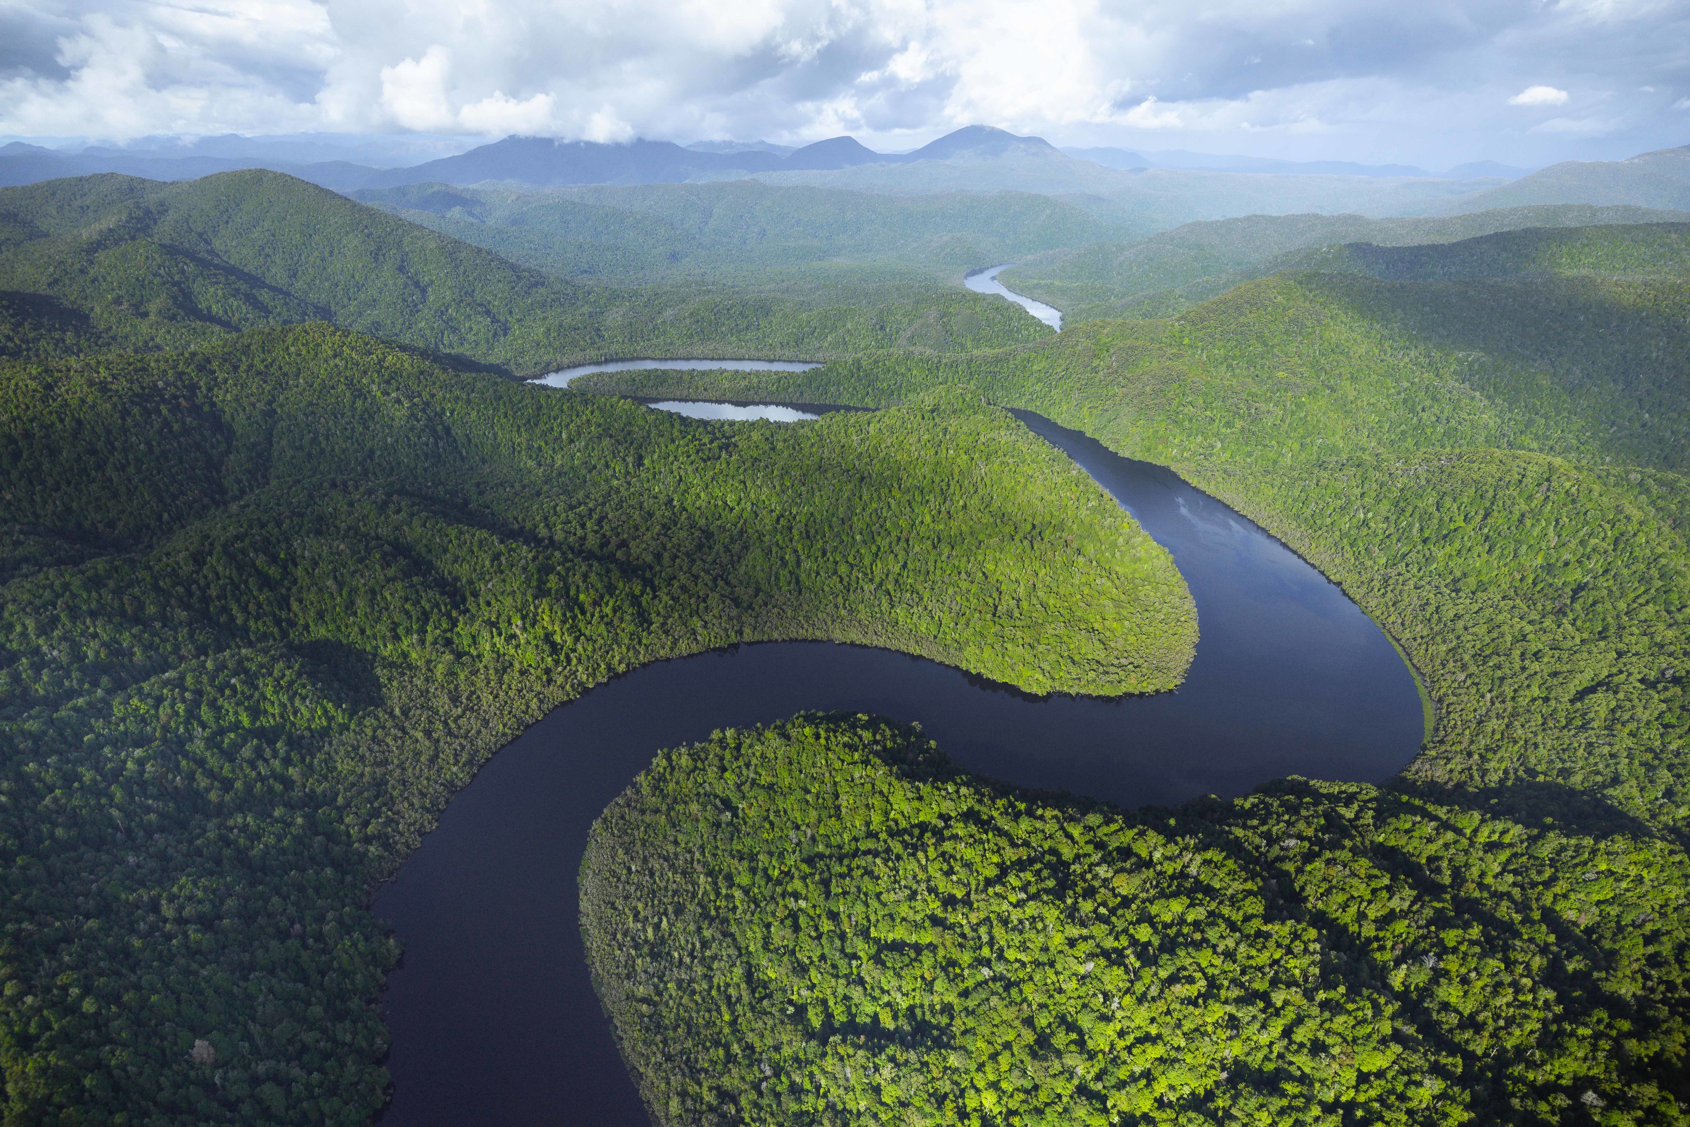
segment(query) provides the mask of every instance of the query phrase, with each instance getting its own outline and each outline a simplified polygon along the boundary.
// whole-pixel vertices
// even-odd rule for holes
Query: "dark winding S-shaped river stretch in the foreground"
[[[1288,774],[1379,782],[1423,737],[1413,674],[1344,593],[1159,466],[1038,416],[1173,553],[1200,640],[1176,693],[1033,700],[955,669],[826,642],[637,669],[500,750],[375,899],[404,943],[384,995],[384,1127],[649,1120],[581,953],[576,870],[593,818],[659,749],[801,710],[918,720],[972,770],[1124,806],[1235,796]]]

